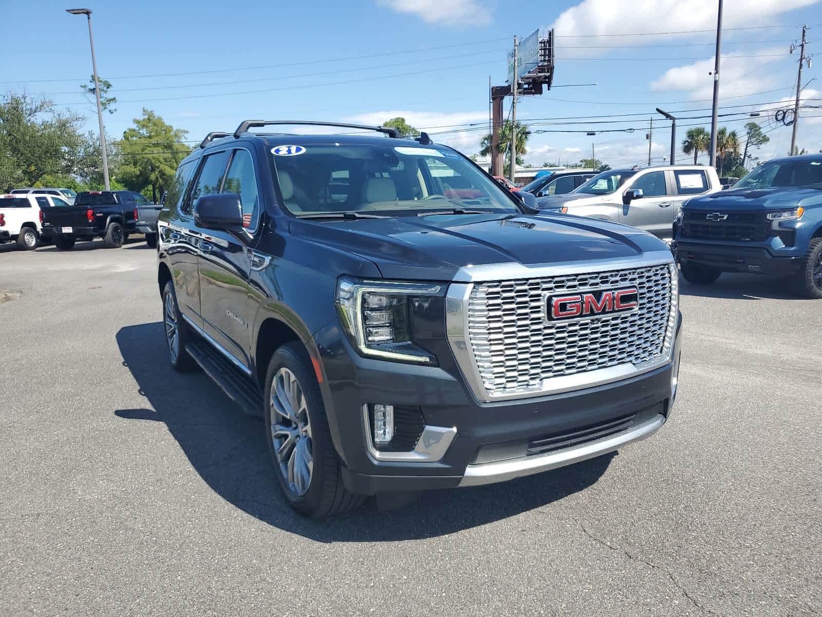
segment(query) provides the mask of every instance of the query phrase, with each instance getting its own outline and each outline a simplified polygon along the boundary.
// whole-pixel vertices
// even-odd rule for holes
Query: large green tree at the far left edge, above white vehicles
[[[46,175],[74,173],[85,118],[58,112],[24,93],[0,99],[0,190],[35,186]]]

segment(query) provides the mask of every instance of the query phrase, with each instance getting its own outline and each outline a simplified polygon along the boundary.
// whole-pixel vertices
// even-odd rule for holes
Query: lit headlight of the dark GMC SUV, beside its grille
[[[337,283],[337,312],[345,332],[361,355],[416,364],[436,359],[416,345],[409,327],[409,303],[439,295],[443,285],[393,281],[359,281],[343,276]]]

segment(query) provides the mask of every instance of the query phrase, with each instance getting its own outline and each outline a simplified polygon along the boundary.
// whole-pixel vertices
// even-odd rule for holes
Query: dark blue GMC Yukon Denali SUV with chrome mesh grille
[[[424,133],[211,133],[158,230],[169,360],[265,418],[299,513],[569,465],[671,414],[666,245],[540,215]]]

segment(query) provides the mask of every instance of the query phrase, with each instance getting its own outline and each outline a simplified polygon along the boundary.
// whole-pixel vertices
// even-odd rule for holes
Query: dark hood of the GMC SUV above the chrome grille
[[[292,220],[290,231],[373,262],[386,278],[450,281],[459,268],[635,257],[667,250],[625,225],[552,215],[434,215]]]

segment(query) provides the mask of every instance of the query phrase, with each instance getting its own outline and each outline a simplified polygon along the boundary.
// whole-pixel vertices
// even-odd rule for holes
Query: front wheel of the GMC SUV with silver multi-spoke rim
[[[311,359],[299,343],[272,356],[266,373],[266,441],[285,498],[298,513],[327,517],[356,508],[345,488]]]

